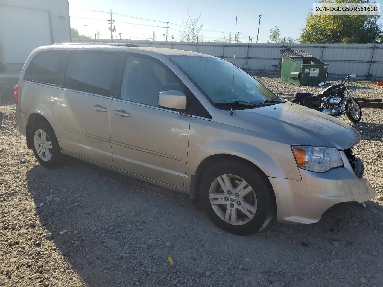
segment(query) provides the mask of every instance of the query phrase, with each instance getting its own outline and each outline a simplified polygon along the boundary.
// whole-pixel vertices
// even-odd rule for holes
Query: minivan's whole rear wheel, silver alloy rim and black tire
[[[30,132],[33,154],[38,162],[47,168],[62,166],[64,155],[52,127],[46,122],[36,122]]]

